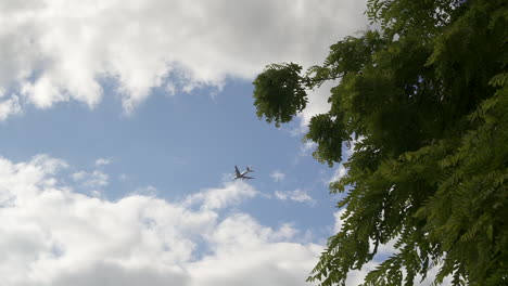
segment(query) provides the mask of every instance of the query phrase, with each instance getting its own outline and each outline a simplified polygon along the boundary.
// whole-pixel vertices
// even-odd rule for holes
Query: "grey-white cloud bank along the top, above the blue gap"
[[[129,113],[154,88],[170,95],[220,89],[227,78],[252,80],[266,64],[320,63],[331,43],[366,27],[365,4],[2,1],[0,87],[13,101],[17,92],[23,104],[39,108],[66,101],[93,108],[104,95],[101,82],[110,79]]]

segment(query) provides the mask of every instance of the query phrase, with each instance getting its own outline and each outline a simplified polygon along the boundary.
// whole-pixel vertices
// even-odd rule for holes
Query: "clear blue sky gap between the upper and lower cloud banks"
[[[317,232],[316,239],[326,238],[336,203],[328,194],[333,170],[314,160],[312,150],[303,152],[302,135],[294,133],[297,122],[277,129],[259,120],[250,81],[228,80],[220,92],[154,92],[131,115],[123,113],[114,96],[92,110],[76,102],[29,107],[1,123],[2,136],[10,140],[0,152],[14,161],[47,154],[73,166],[71,173],[99,170],[109,177],[106,185],[76,191],[100,191],[110,200],[143,190],[178,199],[231,181],[236,165],[252,166],[256,180],[249,183],[263,196],[242,209],[266,225],[292,222]],[[97,166],[101,158],[109,162]],[[275,179],[275,172],[283,178]],[[299,203],[275,195],[295,190],[309,198]]]

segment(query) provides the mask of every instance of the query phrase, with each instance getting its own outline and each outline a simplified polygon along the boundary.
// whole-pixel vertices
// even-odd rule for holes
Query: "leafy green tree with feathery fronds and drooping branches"
[[[342,230],[308,281],[345,285],[380,244],[397,251],[365,285],[414,285],[440,266],[454,285],[508,285],[508,5],[505,0],[369,0],[379,28],[330,47],[306,73],[269,65],[254,80],[259,118],[280,125],[307,91],[340,79],[306,140],[330,166],[355,144]]]

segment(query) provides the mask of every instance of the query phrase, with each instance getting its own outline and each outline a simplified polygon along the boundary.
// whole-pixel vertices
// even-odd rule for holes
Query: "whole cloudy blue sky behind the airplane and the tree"
[[[320,64],[365,4],[0,1],[0,285],[310,285],[341,225],[346,170],[302,142],[331,86],[276,128],[252,81]]]

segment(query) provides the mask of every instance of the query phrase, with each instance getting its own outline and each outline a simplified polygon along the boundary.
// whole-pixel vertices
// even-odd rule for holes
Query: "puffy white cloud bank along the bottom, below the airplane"
[[[289,224],[223,213],[255,194],[243,182],[182,202],[139,194],[110,202],[74,192],[61,180],[66,168],[45,155],[0,157],[0,285],[303,286],[322,250],[297,243],[301,232]]]

